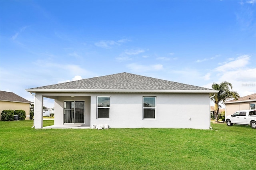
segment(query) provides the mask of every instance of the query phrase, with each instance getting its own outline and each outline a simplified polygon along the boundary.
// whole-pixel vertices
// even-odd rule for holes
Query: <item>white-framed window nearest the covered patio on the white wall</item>
[[[109,118],[110,96],[97,96],[97,118]]]

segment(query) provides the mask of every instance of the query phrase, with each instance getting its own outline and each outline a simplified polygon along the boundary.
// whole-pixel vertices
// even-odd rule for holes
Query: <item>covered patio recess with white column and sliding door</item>
[[[35,128],[90,128],[90,95],[37,92],[34,96]],[[43,126],[44,98],[54,100],[54,125],[51,126]]]

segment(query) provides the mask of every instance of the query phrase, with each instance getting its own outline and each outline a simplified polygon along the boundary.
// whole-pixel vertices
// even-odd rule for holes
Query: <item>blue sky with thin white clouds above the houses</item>
[[[0,41],[0,89],[30,101],[25,89],[122,72],[256,93],[256,0],[1,0]]]

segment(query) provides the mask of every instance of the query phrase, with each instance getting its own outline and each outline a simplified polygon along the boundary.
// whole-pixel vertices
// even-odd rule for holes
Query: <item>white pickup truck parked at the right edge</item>
[[[256,110],[237,111],[233,115],[226,116],[226,123],[228,126],[232,124],[250,125],[256,128]]]

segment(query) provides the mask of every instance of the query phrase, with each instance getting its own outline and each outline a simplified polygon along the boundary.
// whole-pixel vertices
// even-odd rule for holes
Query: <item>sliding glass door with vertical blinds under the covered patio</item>
[[[64,101],[64,123],[84,124],[84,101]]]

